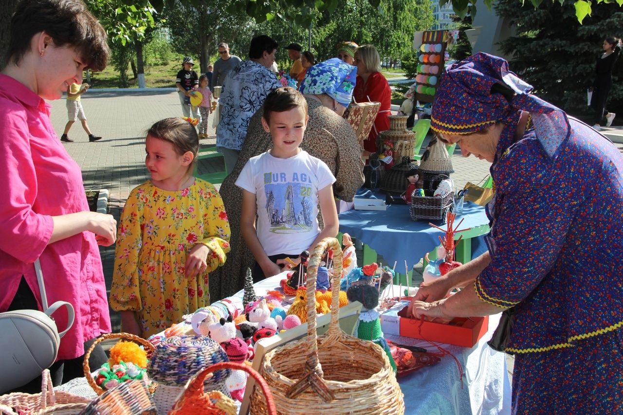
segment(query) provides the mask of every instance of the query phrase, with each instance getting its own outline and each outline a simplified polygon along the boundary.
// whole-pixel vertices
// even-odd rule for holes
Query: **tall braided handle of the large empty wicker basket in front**
[[[333,250],[333,277],[331,279],[331,322],[326,333],[327,338],[339,340],[340,330],[340,279],[342,274],[342,249],[337,239],[326,237],[314,247],[307,266],[307,343],[309,353],[305,361],[303,376],[293,384],[286,394],[287,398],[296,398],[310,386],[325,401],[335,396],[323,380],[322,367],[318,360],[318,336],[316,335],[316,276],[318,265],[327,249]]]

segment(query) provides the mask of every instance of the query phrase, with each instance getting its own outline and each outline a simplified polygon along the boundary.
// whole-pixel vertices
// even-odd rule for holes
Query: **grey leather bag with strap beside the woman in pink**
[[[60,338],[74,324],[74,307],[68,302],[57,301],[47,307],[47,296],[39,259],[35,271],[41,304],[39,310],[16,310],[0,313],[0,394],[19,388],[52,366],[59,353]],[[67,328],[58,331],[52,313],[66,306]]]

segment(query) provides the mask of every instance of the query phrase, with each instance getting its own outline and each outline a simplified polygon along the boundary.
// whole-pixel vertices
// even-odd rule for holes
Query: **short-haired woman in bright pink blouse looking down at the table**
[[[39,258],[48,302],[64,300],[75,310],[50,368],[59,384],[64,371],[65,381],[79,376],[85,345],[110,332],[97,246],[115,242],[117,223],[89,211],[80,168],[54,132],[44,99],[82,83],[87,67],[106,67],[106,34],[80,0],[22,0],[7,56],[0,74],[0,312],[41,309],[33,265]],[[54,319],[66,327],[64,308]],[[98,356],[105,358],[103,350]],[[20,389],[40,390],[36,383]]]

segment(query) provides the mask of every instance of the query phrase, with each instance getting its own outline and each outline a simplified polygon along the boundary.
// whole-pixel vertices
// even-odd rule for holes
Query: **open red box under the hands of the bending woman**
[[[400,335],[447,343],[449,345],[472,347],[489,328],[489,317],[457,317],[450,323],[422,322],[407,316],[407,307],[398,312],[400,318]]]

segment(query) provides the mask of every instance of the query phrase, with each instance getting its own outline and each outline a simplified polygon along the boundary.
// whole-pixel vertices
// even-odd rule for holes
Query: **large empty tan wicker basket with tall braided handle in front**
[[[333,250],[331,322],[316,336],[316,272],[327,248]],[[404,396],[388,356],[372,341],[346,335],[338,322],[342,250],[335,238],[316,245],[307,268],[307,338],[264,356],[260,374],[269,384],[278,414],[403,414]],[[267,413],[258,388],[252,414]]]

